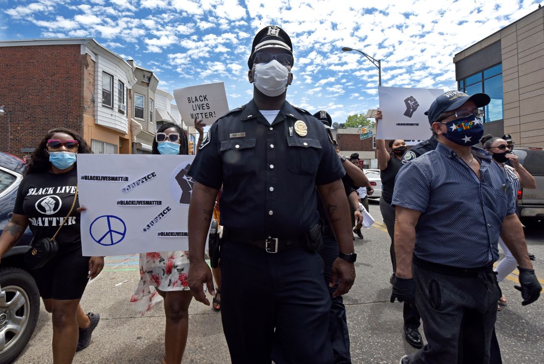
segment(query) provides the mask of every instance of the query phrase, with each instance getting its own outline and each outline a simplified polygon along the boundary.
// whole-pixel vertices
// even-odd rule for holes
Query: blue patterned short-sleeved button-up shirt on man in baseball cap
[[[392,205],[421,212],[414,254],[459,268],[485,267],[499,258],[502,221],[515,213],[509,182],[491,155],[472,147],[480,180],[459,156],[438,143],[397,175]]]

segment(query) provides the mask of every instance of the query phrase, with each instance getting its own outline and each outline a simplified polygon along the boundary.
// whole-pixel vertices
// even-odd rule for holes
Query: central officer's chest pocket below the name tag
[[[221,140],[220,152],[225,174],[248,172],[256,168],[255,138]]]

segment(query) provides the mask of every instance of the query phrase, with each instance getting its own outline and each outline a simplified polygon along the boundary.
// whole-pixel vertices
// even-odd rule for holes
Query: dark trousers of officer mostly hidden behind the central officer
[[[331,297],[331,318],[329,321],[329,340],[332,344],[332,351],[335,356],[335,364],[350,364],[351,355],[349,353],[349,331],[348,323],[345,316],[345,306],[342,296],[332,297],[338,285],[329,287],[331,281],[332,263],[338,258],[338,244],[335,236],[330,235],[323,237],[323,249],[319,254],[323,258],[325,264],[325,285],[329,288]]]

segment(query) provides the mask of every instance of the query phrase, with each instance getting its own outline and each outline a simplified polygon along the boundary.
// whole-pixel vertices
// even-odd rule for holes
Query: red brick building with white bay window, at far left
[[[0,41],[0,151],[31,153],[48,130],[82,134],[95,153],[131,152],[133,67],[94,39]]]

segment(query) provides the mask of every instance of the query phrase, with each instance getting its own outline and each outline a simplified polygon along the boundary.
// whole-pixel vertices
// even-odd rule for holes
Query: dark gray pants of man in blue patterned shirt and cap
[[[500,289],[493,272],[459,277],[413,265],[416,306],[427,344],[404,359],[418,364],[487,364]]]

